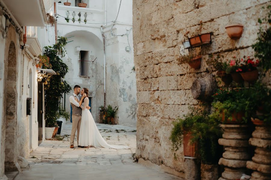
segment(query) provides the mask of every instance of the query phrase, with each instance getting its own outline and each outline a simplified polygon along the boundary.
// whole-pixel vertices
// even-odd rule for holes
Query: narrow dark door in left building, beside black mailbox
[[[38,82],[38,144],[42,143],[43,83]]]

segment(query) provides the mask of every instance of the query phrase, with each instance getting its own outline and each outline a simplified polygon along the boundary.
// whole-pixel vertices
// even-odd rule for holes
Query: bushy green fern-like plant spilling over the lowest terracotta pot
[[[217,163],[221,156],[221,147],[218,138],[221,137],[219,123],[207,116],[207,113],[190,113],[184,118],[177,119],[173,123],[170,140],[172,141],[173,151],[177,151],[183,143],[183,133],[191,132],[191,142],[198,144],[196,156],[203,163]],[[174,153],[176,157],[176,153]]]

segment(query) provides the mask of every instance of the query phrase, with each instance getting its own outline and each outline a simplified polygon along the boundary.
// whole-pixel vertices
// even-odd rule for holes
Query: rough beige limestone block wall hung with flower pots
[[[192,98],[191,85],[207,73],[204,59],[220,53],[226,58],[253,56],[258,18],[266,15],[263,6],[269,0],[134,0],[133,41],[136,67],[138,123],[136,157],[164,164],[184,172],[182,148],[173,158],[170,132],[172,122],[189,112],[188,107],[201,108]],[[185,33],[213,32],[212,44],[202,47],[201,69],[178,64]],[[241,39],[231,40],[225,26],[244,25]],[[270,76],[269,76],[270,77]],[[270,78],[269,78],[270,80]],[[191,169],[190,169],[191,170]]]

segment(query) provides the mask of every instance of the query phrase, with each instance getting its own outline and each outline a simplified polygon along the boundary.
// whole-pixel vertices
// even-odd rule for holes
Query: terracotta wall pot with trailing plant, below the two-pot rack
[[[194,69],[200,69],[201,68],[200,52],[196,53],[196,51],[194,49],[190,49],[188,51],[188,54],[181,54],[179,62],[181,64],[187,63],[190,67],[192,67]]]

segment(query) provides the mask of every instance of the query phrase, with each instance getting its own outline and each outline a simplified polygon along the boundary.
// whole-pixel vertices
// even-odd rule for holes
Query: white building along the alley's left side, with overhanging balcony
[[[35,63],[44,46],[55,44],[55,28],[45,25],[54,1],[0,0],[0,6],[0,179],[7,179],[5,171],[26,167],[30,151],[45,140],[44,106],[38,123]],[[31,115],[26,114],[27,98],[31,98]]]

